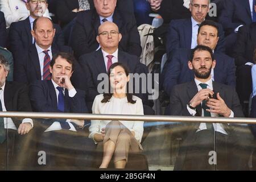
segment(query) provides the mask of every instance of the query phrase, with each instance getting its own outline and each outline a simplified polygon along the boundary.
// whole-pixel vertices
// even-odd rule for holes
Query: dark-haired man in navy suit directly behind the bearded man
[[[218,40],[217,24],[211,20],[201,23],[197,43],[210,47],[216,58],[216,67],[211,72],[212,79],[222,84],[236,86],[234,59],[224,53],[215,52]],[[163,87],[168,96],[175,85],[193,80],[193,71],[188,68],[191,52],[191,49],[177,49],[172,59],[167,62],[167,65],[164,65]]]

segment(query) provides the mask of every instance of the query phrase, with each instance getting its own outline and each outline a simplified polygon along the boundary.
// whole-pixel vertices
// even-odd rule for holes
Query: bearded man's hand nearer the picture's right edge
[[[231,114],[231,110],[226,106],[225,101],[220,97],[220,93],[217,93],[217,99],[210,98],[207,102],[207,106],[210,109],[207,109],[210,113],[216,113],[223,115],[228,118]]]

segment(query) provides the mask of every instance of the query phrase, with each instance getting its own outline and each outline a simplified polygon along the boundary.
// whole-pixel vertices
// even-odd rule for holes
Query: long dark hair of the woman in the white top
[[[130,72],[130,71],[129,71],[129,68],[126,67],[125,64],[122,64],[122,63],[113,63],[113,64],[109,67],[109,71],[108,71],[108,76],[109,76],[109,78],[110,78],[110,73],[111,73],[110,71],[111,71],[113,68],[117,67],[117,66],[122,67],[122,68],[125,70],[125,75],[126,75],[126,76],[129,75],[129,72]],[[103,98],[102,101],[101,101],[102,103],[109,102],[110,98],[112,98],[113,93],[110,92],[110,89],[111,89],[111,86],[110,86],[110,80],[109,80],[109,93],[104,93],[104,94],[103,94],[103,97],[104,97],[104,98]],[[127,92],[126,92],[127,101],[130,102],[131,104],[135,104],[136,101],[133,100],[133,94],[132,94],[132,93],[129,93],[129,84],[128,84],[128,82],[127,82],[127,84],[126,84],[126,90],[127,90]]]

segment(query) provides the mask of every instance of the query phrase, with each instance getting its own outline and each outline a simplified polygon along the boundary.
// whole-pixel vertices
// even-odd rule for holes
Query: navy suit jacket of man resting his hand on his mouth
[[[86,113],[85,92],[76,89],[76,95],[69,97],[65,89],[65,113]],[[30,85],[30,101],[35,112],[61,113],[57,109],[57,96],[51,80],[39,80]],[[42,120],[45,127],[49,127],[56,119]]]

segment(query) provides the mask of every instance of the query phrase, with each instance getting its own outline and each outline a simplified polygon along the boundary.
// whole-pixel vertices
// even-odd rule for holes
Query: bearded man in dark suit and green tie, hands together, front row
[[[195,80],[174,86],[170,97],[171,115],[243,117],[236,90],[212,81],[210,71],[215,64],[212,49],[207,46],[193,49],[188,66]],[[186,130],[181,135],[183,143],[175,170],[247,169],[250,151],[245,148],[249,141],[247,135],[239,135],[232,124],[189,122],[183,125]],[[214,165],[210,163],[210,152],[216,152]]]

